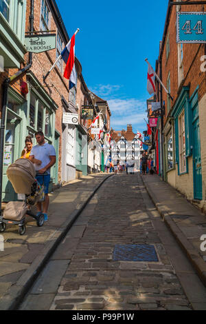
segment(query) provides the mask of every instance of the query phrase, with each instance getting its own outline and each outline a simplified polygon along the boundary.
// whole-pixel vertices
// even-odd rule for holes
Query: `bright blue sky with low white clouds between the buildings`
[[[108,101],[115,130],[146,130],[148,61],[155,68],[168,1],[56,0],[90,90]]]

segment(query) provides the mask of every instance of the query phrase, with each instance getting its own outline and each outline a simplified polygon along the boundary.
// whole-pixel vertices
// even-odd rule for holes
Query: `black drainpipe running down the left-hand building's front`
[[[30,2],[30,32],[34,32],[34,0]],[[1,110],[1,125],[0,125],[0,215],[1,215],[1,200],[3,187],[3,153],[4,153],[4,132],[5,132],[5,112],[8,103],[8,88],[9,85],[19,80],[32,67],[32,53],[29,53],[29,64],[25,68],[16,72],[12,77],[5,79],[3,82],[3,105]]]

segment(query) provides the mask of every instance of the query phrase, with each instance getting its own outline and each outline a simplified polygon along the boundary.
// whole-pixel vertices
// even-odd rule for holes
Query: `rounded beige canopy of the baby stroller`
[[[30,160],[16,160],[8,167],[6,174],[16,194],[31,194],[36,171]]]

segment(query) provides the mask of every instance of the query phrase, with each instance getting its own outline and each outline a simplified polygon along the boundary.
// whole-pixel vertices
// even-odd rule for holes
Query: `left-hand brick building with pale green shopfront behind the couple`
[[[5,72],[0,73],[1,134],[4,135],[1,136],[3,152],[0,154],[3,160],[2,191],[3,200],[10,201],[17,197],[5,172],[8,165],[21,156],[25,136],[34,136],[37,130],[43,130],[46,141],[56,149],[51,188],[52,183],[65,183],[76,176],[87,174],[87,125],[80,116],[82,105],[90,104],[91,99],[78,59],[75,61],[78,81],[70,91],[69,82],[63,77],[65,63],[62,59],[46,81],[43,79],[69,42],[55,0],[10,0],[9,4],[3,0],[0,24],[0,55],[5,62]],[[56,34],[56,48],[47,52],[28,53],[24,45],[25,33],[30,32],[37,36]],[[13,75],[13,81],[8,79]],[[5,80],[9,83],[6,92],[3,88]],[[2,100],[5,101],[4,105]],[[62,124],[63,112],[78,114],[78,125]]]

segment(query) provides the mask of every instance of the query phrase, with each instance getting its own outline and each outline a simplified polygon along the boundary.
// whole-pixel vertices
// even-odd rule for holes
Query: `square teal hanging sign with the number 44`
[[[176,43],[206,43],[206,12],[177,12]]]

